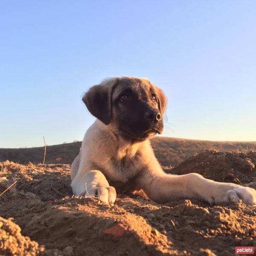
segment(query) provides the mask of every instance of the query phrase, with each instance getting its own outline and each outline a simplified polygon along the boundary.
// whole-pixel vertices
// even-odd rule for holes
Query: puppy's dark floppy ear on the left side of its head
[[[112,116],[112,92],[117,84],[117,78],[106,79],[101,84],[95,85],[84,94],[83,102],[90,113],[109,125]]]

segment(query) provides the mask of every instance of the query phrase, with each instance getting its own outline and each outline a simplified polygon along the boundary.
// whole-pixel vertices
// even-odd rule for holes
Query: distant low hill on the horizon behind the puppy
[[[171,137],[155,137],[151,140],[157,159],[162,166],[177,166],[189,156],[205,149],[220,151],[255,151],[256,142],[220,142],[207,140],[187,140]],[[72,163],[79,153],[81,142],[47,146],[46,163]],[[0,148],[0,161],[10,160],[19,163],[42,163],[44,147]]]

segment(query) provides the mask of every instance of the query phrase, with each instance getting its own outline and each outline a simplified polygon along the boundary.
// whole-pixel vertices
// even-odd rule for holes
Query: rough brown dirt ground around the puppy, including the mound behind
[[[166,172],[256,188],[256,153],[205,151]],[[0,255],[234,255],[256,246],[256,207],[241,202],[157,204],[140,193],[108,207],[75,197],[70,165],[0,163]],[[110,229],[110,230],[109,230]]]

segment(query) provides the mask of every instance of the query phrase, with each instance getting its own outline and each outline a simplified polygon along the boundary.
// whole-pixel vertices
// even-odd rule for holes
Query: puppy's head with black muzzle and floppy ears
[[[91,87],[83,102],[93,116],[116,127],[124,138],[145,140],[163,131],[166,96],[148,79],[106,79]]]

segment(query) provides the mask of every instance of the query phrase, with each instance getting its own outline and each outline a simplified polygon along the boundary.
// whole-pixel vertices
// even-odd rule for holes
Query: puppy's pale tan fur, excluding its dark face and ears
[[[125,79],[130,79],[132,83],[137,78]],[[145,87],[150,83],[148,79],[140,81]],[[116,83],[116,79],[105,80],[102,86],[111,83]],[[156,87],[156,90],[160,89]],[[162,90],[160,94],[165,97]],[[166,105],[160,108],[164,111]],[[108,125],[96,119],[84,136],[81,151],[71,166],[71,186],[75,195],[97,195],[103,202],[112,204],[116,200],[116,189],[143,189],[149,198],[161,203],[175,198],[198,198],[209,204],[239,199],[245,204],[256,204],[255,189],[215,182],[196,173],[167,175],[154,156],[149,140],[131,143],[116,136],[119,130],[115,115],[118,113],[114,112]]]

